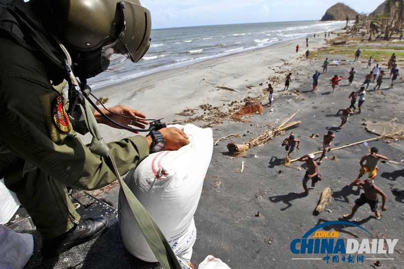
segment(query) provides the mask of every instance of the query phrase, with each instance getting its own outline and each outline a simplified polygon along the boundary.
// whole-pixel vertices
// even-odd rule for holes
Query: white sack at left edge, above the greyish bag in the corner
[[[0,179],[0,224],[8,223],[20,205],[17,195],[4,185],[4,179]]]

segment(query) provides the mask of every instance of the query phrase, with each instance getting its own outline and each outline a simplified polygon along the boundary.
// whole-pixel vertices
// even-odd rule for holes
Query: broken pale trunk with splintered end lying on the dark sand
[[[251,139],[247,143],[242,143],[242,144],[236,144],[234,142],[231,142],[227,144],[227,149],[229,150],[230,154],[232,156],[240,156],[245,153],[246,150],[250,149],[251,147],[255,147],[261,144],[264,144],[268,142],[269,140],[281,135],[285,130],[296,127],[299,125],[301,122],[292,122],[286,125],[286,123],[293,118],[293,116],[296,115],[293,114],[289,119],[285,120],[282,124],[280,124],[278,127],[274,128],[273,130],[266,130],[264,131],[260,136],[257,138]]]

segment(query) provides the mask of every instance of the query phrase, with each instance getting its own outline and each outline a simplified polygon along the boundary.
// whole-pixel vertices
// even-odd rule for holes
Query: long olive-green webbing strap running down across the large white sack
[[[157,260],[160,262],[161,266],[164,269],[180,269],[181,264],[178,261],[177,257],[174,254],[170,244],[168,243],[166,237],[163,232],[160,230],[159,226],[144,208],[144,206],[139,202],[139,200],[135,197],[126,183],[122,180],[117,166],[115,164],[115,160],[109,151],[107,144],[104,142],[104,139],[100,136],[100,131],[94,115],[91,113],[86,113],[89,110],[89,102],[85,99],[85,107],[80,104],[81,111],[84,115],[84,120],[87,125],[88,130],[93,135],[90,150],[94,154],[105,157],[110,161],[110,164],[114,168],[114,174],[118,179],[119,185],[121,186],[123,193],[126,197],[126,200],[129,203],[129,206],[132,210],[133,216],[137,224],[139,225],[140,230],[142,231],[144,238],[149,244],[151,250],[155,254]]]

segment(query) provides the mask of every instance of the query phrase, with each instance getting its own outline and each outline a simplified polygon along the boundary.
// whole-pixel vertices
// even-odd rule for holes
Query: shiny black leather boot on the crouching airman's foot
[[[66,250],[98,237],[108,227],[106,217],[93,217],[80,221],[70,231],[51,239],[43,239],[41,253],[44,257],[53,257]]]

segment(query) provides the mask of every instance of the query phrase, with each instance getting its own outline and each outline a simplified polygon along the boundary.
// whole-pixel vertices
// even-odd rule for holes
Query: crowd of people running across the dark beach
[[[306,41],[308,43],[308,39],[306,39]],[[297,50],[298,50],[298,46],[296,47],[296,52],[297,52]],[[354,61],[359,61],[360,55],[361,55],[361,50],[360,50],[360,48],[358,48],[358,50],[355,52]],[[308,58],[308,52],[306,53],[306,56]],[[395,53],[393,53],[387,64],[387,73],[390,72],[390,77],[391,77],[391,84],[388,87],[388,89],[391,89],[394,86],[395,81],[397,80],[397,77],[399,76],[397,64],[395,63],[395,61],[396,61],[395,59],[396,59]],[[373,63],[373,59],[372,59],[372,57],[370,57],[367,62],[367,69],[371,69],[372,63]],[[328,61],[328,58],[326,58],[326,60],[323,63],[323,66],[322,66],[323,73],[327,72],[328,65],[329,65],[329,61]],[[385,76],[385,73],[386,72],[384,70],[381,70],[380,64],[377,63],[376,66],[373,67],[372,71],[370,71],[369,74],[367,74],[365,76],[365,81],[361,85],[360,90],[352,91],[349,94],[348,99],[350,99],[350,106],[347,108],[342,108],[342,109],[338,110],[338,112],[336,113],[336,116],[339,116],[341,118],[341,124],[339,126],[339,129],[343,128],[344,124],[348,121],[348,118],[351,115],[355,114],[357,107],[358,107],[357,114],[359,114],[359,115],[362,114],[361,107],[362,107],[363,103],[365,102],[365,96],[366,96],[370,83],[374,82],[376,80],[376,86],[374,87],[374,90],[376,90],[376,88],[377,88],[377,90],[380,90],[380,86],[383,82],[382,80],[383,80],[383,76]],[[352,67],[349,72],[349,76],[348,76],[348,81],[349,81],[348,85],[349,86],[352,85],[355,74],[356,74],[355,69]],[[315,91],[316,89],[318,89],[318,81],[319,81],[320,75],[321,75],[321,73],[317,70],[313,74],[313,86],[312,86],[311,91]],[[289,85],[291,82],[291,76],[292,76],[292,73],[288,73],[286,75],[285,88],[283,89],[284,91],[288,90],[288,88],[289,88]],[[339,85],[339,81],[342,78],[343,78],[343,76],[338,76],[338,75],[334,75],[332,78],[330,78],[332,91],[335,91],[335,88]],[[366,85],[366,88],[365,88],[365,85]],[[271,84],[268,84],[268,91],[270,93],[269,94],[269,106],[271,106],[272,101],[273,101],[273,95],[274,95],[273,94],[274,89]],[[368,93],[370,93],[370,92],[368,91]],[[358,106],[356,106],[357,103],[358,103]],[[331,142],[334,138],[335,138],[335,135],[334,135],[333,131],[331,131],[331,130],[329,130],[327,134],[324,134],[323,142],[322,142],[323,151],[322,151],[321,157],[318,160],[319,164],[322,163],[323,158],[327,158],[325,156],[326,152],[328,152],[332,149]],[[300,139],[296,139],[292,133],[289,135],[288,138],[285,138],[283,140],[281,146],[285,146],[286,151],[288,151],[287,157],[290,158],[291,153],[295,150],[295,148],[296,148],[296,150],[299,149],[299,144],[300,144]],[[365,144],[367,145],[367,143],[365,143]],[[377,208],[378,207],[377,206],[378,205],[378,195],[380,195],[382,197],[381,210],[382,211],[386,210],[387,196],[380,188],[378,188],[374,184],[374,179],[378,172],[377,164],[378,164],[379,160],[383,159],[383,160],[388,161],[388,157],[378,154],[378,149],[376,147],[370,148],[369,152],[370,152],[369,154],[366,154],[365,156],[363,156],[361,158],[361,160],[359,162],[359,164],[361,166],[361,168],[359,170],[360,171],[359,175],[358,175],[357,179],[355,179],[350,184],[350,186],[352,186],[352,187],[354,187],[354,186],[362,187],[364,190],[364,193],[362,193],[360,195],[360,197],[355,200],[355,205],[352,208],[351,212],[349,214],[345,214],[343,216],[345,219],[351,219],[352,217],[354,217],[354,214],[358,210],[358,208],[360,206],[364,205],[365,203],[368,203],[370,205],[372,212],[375,213],[376,219],[379,220],[381,218],[381,216],[380,216],[380,211]],[[319,174],[318,164],[315,161],[314,154],[306,154],[304,156],[299,157],[297,160],[300,162],[306,162],[306,165],[307,165],[307,171],[302,180],[302,186],[304,188],[304,192],[301,192],[301,195],[308,195],[309,190],[308,190],[307,184],[310,181],[310,179],[312,180],[311,186],[315,187],[318,184],[318,182],[322,180],[322,176],[321,176],[321,174]],[[368,173],[368,178],[361,181],[361,177],[367,173]]]

